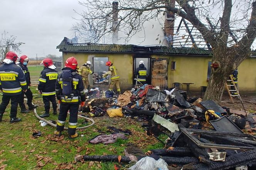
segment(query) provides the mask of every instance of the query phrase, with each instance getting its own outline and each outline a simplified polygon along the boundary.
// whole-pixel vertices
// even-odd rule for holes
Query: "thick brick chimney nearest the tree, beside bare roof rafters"
[[[175,0],[169,0],[169,3],[166,5],[168,5],[170,7],[175,7]],[[173,43],[174,21],[175,21],[174,13],[166,10],[165,23],[164,23],[164,34],[165,34],[165,38],[167,40],[168,46],[172,46],[172,43]]]

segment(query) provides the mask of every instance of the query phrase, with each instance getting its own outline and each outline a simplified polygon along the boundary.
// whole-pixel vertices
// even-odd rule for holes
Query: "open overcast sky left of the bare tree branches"
[[[78,0],[0,0],[0,33],[7,31],[24,42],[22,54],[44,57],[62,55],[56,46],[64,37],[74,37],[72,25],[82,11]],[[20,55],[19,55],[20,56]]]

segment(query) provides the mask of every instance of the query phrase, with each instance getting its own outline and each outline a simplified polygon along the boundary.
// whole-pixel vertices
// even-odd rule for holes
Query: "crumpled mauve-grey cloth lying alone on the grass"
[[[97,144],[97,143],[104,143],[104,144],[115,143],[118,138],[127,139],[126,136],[123,133],[116,133],[116,134],[111,134],[111,135],[96,136],[95,138],[90,140],[89,143],[93,143],[93,144]]]

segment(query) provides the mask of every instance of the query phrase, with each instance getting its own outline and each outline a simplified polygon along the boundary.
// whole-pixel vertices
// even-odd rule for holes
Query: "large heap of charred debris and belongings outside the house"
[[[103,93],[105,95],[99,94],[103,98],[88,99],[90,101],[83,112],[100,112],[99,116],[107,112],[109,117],[146,120],[148,123],[143,123],[143,127],[147,128],[147,134],[164,143],[165,148],[139,155],[128,153],[126,148],[125,156],[80,156],[83,160],[138,161],[130,169],[142,164],[151,169],[166,169],[168,164],[180,169],[202,170],[242,165],[254,167],[256,164],[256,137],[243,132],[243,129],[256,130],[255,114],[221,107],[212,100],[187,98],[185,91],[175,88],[160,91],[158,87],[147,84],[119,97],[115,93],[109,97],[109,91]],[[166,135],[167,140],[162,141],[160,135]],[[152,162],[155,162],[154,166],[151,166]]]

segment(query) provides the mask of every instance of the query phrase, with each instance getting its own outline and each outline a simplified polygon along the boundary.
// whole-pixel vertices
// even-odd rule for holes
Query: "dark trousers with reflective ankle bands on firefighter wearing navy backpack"
[[[74,135],[77,127],[77,114],[79,104],[61,103],[59,108],[59,117],[57,121],[57,131],[64,130],[64,124],[67,118],[67,112],[69,111],[69,123],[68,123],[68,134]]]

